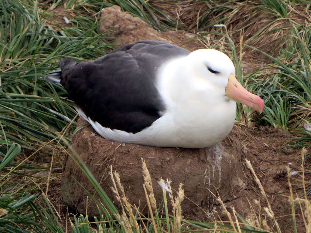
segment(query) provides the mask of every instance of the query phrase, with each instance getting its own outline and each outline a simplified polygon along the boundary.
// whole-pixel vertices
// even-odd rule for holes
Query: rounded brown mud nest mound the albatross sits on
[[[72,147],[116,204],[118,201],[111,191],[110,165],[119,172],[129,202],[140,206],[140,210],[147,214],[141,158],[146,161],[151,174],[157,201],[163,199],[162,189],[157,184],[161,177],[172,180],[175,190],[178,190],[179,183],[184,184],[187,197],[182,205],[184,216],[196,217],[198,212],[202,213],[200,208],[205,212],[211,210],[216,200],[209,190],[214,194],[217,190],[222,200],[228,201],[236,199],[244,189],[240,142],[234,134],[231,134],[230,142],[224,140],[210,148],[157,148],[135,144],[123,146],[96,135],[86,121],[79,119],[77,127],[81,125],[85,127],[73,136]],[[85,214],[87,193],[79,183],[100,199],[72,158],[67,157],[61,181],[63,201]],[[98,215],[98,207],[90,197],[87,212],[89,216]]]

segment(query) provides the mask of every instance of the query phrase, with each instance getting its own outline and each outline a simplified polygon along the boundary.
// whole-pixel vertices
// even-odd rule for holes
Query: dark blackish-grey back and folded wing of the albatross
[[[187,56],[184,48],[142,40],[93,61],[60,61],[61,84],[92,121],[110,129],[137,133],[165,110],[155,86],[163,62]]]

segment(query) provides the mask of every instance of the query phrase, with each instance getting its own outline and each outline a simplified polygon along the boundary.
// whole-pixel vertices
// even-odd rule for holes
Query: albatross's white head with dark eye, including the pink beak
[[[235,78],[235,68],[230,58],[215,49],[199,49],[184,60],[184,72],[191,72],[197,89],[207,95],[245,104],[259,113],[264,109],[262,98],[247,91]],[[191,69],[189,68],[191,67]]]

